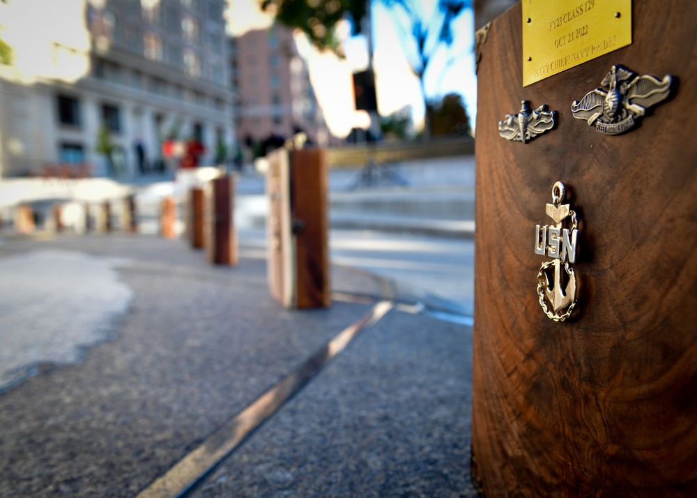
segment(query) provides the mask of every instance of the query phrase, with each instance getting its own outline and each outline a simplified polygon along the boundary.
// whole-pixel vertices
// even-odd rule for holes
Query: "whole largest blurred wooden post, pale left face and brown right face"
[[[327,155],[278,149],[268,156],[268,284],[286,308],[331,305]]]

